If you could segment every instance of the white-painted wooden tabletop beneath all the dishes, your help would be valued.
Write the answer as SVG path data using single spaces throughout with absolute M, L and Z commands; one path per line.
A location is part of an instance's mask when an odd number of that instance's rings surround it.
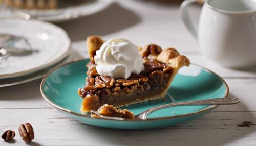
M 198 19 L 201 7 L 191 15 Z M 174 127 L 151 130 L 114 130 L 82 124 L 51 107 L 41 98 L 40 80 L 0 88 L 0 132 L 16 132 L 10 143 L 26 145 L 18 126 L 29 122 L 35 139 L 29 145 L 256 145 L 256 125 L 239 127 L 244 121 L 256 123 L 256 67 L 232 70 L 206 60 L 186 30 L 179 4 L 147 1 L 119 1 L 102 12 L 78 20 L 57 23 L 70 35 L 74 51 L 86 57 L 86 37 L 125 37 L 136 44 L 173 46 L 191 62 L 215 71 L 230 87 L 230 96 L 241 98 L 237 105 L 220 106 L 202 117 Z M 79 56 L 77 57 L 79 58 Z

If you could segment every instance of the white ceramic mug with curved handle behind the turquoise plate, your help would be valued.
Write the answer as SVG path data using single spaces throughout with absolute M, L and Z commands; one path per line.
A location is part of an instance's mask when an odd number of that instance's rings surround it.
M 187 8 L 197 0 L 185 0 L 181 14 L 188 30 L 210 60 L 227 67 L 256 64 L 256 0 L 206 0 L 198 31 Z

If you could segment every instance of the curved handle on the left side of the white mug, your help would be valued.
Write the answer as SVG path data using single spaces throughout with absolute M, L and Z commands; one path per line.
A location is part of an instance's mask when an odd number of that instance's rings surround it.
M 190 4 L 192 3 L 199 3 L 199 0 L 185 0 L 184 2 L 182 2 L 181 6 L 180 6 L 180 12 L 181 12 L 181 17 L 183 22 L 185 23 L 187 29 L 190 31 L 190 33 L 194 36 L 194 38 L 197 40 L 197 31 L 195 29 L 195 27 L 193 26 L 191 19 L 188 15 L 188 11 L 187 8 Z

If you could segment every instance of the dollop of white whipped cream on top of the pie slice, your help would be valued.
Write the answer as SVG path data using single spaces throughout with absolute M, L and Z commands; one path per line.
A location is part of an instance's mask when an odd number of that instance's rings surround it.
M 99 75 L 127 79 L 144 70 L 138 47 L 124 38 L 112 38 L 102 44 L 94 56 Z

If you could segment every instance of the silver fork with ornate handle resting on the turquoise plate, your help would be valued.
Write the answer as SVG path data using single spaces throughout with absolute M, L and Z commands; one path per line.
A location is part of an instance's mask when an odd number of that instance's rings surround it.
M 169 108 L 169 107 L 192 106 L 192 105 L 193 106 L 194 105 L 231 105 L 231 104 L 237 104 L 239 101 L 240 101 L 239 98 L 216 98 L 216 99 L 205 99 L 205 100 L 196 100 L 196 101 L 188 101 L 188 102 L 169 103 L 169 104 L 160 105 L 160 106 L 145 110 L 142 113 L 136 115 L 135 119 L 146 120 L 149 114 L 157 110 Z M 101 115 L 97 111 L 93 111 L 93 110 L 91 110 L 91 114 L 96 114 L 101 118 L 105 118 L 105 119 L 125 120 L 125 118 Z

